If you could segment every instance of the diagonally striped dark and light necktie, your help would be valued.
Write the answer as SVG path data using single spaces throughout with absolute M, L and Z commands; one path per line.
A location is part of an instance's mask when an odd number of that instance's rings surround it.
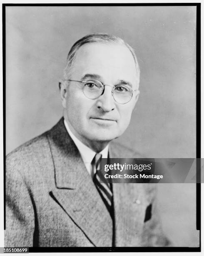
M 105 204 L 108 211 L 111 213 L 111 205 L 112 205 L 112 189 L 110 184 L 106 181 L 106 179 L 102 179 L 102 177 L 99 177 L 98 172 L 100 170 L 99 168 L 99 162 L 101 159 L 101 154 L 95 154 L 95 157 L 93 158 L 91 164 L 92 169 L 94 170 L 95 174 L 93 176 L 93 182 Z M 100 183 L 104 182 L 104 183 Z

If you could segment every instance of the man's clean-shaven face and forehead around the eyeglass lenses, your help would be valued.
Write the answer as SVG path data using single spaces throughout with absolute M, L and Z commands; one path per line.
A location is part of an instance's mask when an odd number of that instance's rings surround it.
M 128 83 L 132 90 L 138 89 L 137 73 L 129 49 L 118 44 L 90 43 L 82 46 L 76 54 L 72 67 L 72 80 L 96 79 L 102 84 L 115 86 Z M 130 122 L 136 103 L 137 92 L 126 104 L 117 103 L 112 97 L 112 87 L 105 86 L 97 99 L 89 99 L 83 93 L 83 84 L 69 82 L 62 92 L 65 120 L 71 131 L 86 145 L 91 142 L 111 141 L 119 137 Z

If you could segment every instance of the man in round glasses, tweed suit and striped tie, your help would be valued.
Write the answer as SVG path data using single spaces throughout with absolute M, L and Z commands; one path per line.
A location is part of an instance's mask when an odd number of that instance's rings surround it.
M 5 246 L 167 246 L 153 184 L 96 178 L 101 157 L 139 157 L 110 143 L 139 95 L 133 49 L 108 34 L 81 38 L 60 95 L 64 118 L 7 156 Z

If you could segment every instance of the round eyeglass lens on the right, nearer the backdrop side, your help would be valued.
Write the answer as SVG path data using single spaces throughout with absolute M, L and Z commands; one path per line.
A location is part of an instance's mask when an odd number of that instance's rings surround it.
M 119 84 L 114 88 L 113 97 L 116 102 L 125 104 L 132 99 L 132 89 Z

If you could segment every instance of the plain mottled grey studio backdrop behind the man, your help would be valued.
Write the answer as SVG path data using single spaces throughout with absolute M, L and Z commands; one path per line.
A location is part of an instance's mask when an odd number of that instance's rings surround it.
M 6 7 L 6 154 L 62 116 L 58 80 L 79 38 L 112 33 L 136 51 L 140 97 L 118 140 L 147 157 L 196 157 L 196 7 Z M 194 184 L 159 184 L 164 230 L 197 246 Z

